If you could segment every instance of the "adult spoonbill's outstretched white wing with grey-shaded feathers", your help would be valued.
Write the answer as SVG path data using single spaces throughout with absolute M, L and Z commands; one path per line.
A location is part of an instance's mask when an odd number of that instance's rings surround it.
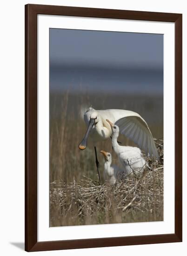
M 121 134 L 134 141 L 146 154 L 154 158 L 158 157 L 153 135 L 147 122 L 138 113 L 122 109 L 108 109 L 106 111 L 108 114 L 110 113 L 111 121 L 119 126 Z M 109 116 L 107 118 L 110 120 Z

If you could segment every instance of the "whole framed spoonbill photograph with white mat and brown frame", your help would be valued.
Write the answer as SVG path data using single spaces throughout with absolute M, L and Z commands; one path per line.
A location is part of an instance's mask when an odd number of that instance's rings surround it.
M 25 249 L 182 241 L 182 14 L 25 6 Z

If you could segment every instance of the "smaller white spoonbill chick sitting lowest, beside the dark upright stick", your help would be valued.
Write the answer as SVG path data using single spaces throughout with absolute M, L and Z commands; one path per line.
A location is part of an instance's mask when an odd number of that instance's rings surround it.
M 100 153 L 103 154 L 105 159 L 104 164 L 104 179 L 110 184 L 114 184 L 116 180 L 121 179 L 125 175 L 125 171 L 121 170 L 117 165 L 112 165 L 112 155 L 109 152 L 101 150 Z

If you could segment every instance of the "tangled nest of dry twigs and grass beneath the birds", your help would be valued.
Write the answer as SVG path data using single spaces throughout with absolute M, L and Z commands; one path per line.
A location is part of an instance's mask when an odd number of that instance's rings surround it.
M 147 158 L 143 175 L 128 175 L 114 185 L 84 177 L 50 184 L 50 226 L 163 220 L 163 141 L 160 159 Z

